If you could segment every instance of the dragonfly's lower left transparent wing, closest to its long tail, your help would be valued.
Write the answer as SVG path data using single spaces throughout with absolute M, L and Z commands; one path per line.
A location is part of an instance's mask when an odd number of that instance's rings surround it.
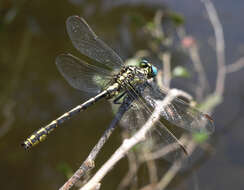
M 56 65 L 68 83 L 78 90 L 97 93 L 111 79 L 109 71 L 88 64 L 71 54 L 59 55 Z

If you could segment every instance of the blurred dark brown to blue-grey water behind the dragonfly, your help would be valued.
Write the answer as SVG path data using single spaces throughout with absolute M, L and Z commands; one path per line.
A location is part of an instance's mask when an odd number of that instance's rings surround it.
M 226 60 L 230 64 L 244 55 L 244 2 L 213 2 L 223 24 Z M 74 14 L 86 18 L 94 31 L 125 59 L 143 47 L 143 39 L 128 30 L 125 17 L 138 12 L 150 18 L 164 7 L 184 15 L 186 30 L 199 43 L 213 87 L 214 34 L 200 1 L 0 1 L 1 189 L 57 189 L 66 180 L 59 166 L 67 163 L 77 169 L 113 118 L 109 104 L 100 102 L 65 123 L 64 129 L 61 127 L 30 152 L 20 147 L 33 130 L 86 98 L 64 81 L 54 64 L 62 52 L 78 55 L 65 31 L 66 18 Z M 228 75 L 224 102 L 213 114 L 215 152 L 199 167 L 197 178 L 186 177 L 174 189 L 195 189 L 193 181 L 201 190 L 243 189 L 243 86 L 244 70 Z M 119 143 L 116 131 L 98 157 L 98 166 Z M 123 163 L 105 178 L 102 189 L 115 189 L 126 172 Z

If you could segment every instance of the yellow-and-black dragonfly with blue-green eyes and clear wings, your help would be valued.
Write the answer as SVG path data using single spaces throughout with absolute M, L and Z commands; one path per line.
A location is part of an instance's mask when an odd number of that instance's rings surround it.
M 147 60 L 141 60 L 137 64 L 125 64 L 120 56 L 93 32 L 83 18 L 68 17 L 66 29 L 82 59 L 71 54 L 61 54 L 56 58 L 57 68 L 73 88 L 92 93 L 94 96 L 30 135 L 22 143 L 25 149 L 44 141 L 61 123 L 101 99 L 110 99 L 113 103 L 119 104 L 126 95 L 133 97 L 135 101 L 128 113 L 123 116 L 122 123 L 142 125 L 146 115 L 152 113 L 155 101 L 163 99 L 167 94 L 166 90 L 155 88 L 156 85 L 150 85 L 148 82 L 157 76 L 158 70 L 155 66 Z M 179 98 L 175 98 L 166 106 L 161 116 L 173 125 L 191 132 L 211 134 L 214 131 L 210 116 Z M 137 122 L 132 123 L 132 120 Z M 160 126 L 160 134 L 168 144 L 178 142 L 177 137 L 161 121 L 158 121 L 157 125 Z

